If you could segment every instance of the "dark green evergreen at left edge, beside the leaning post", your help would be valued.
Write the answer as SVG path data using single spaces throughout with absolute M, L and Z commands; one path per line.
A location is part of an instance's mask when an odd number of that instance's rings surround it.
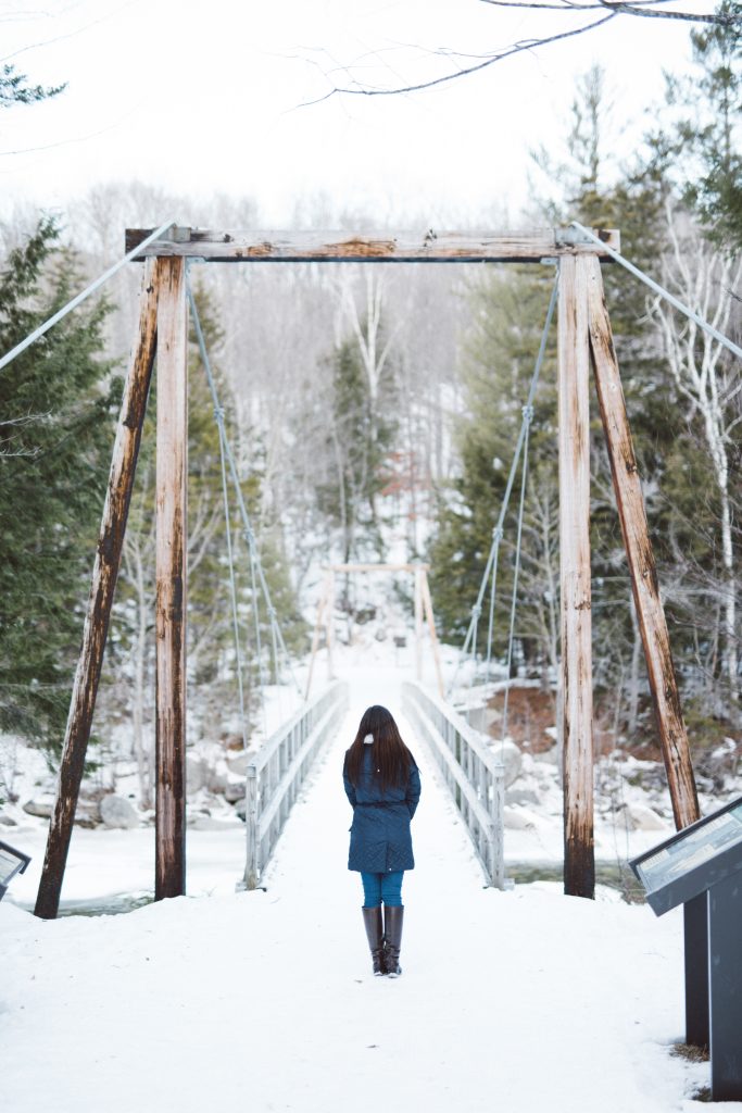
M 81 285 L 43 219 L 0 276 L 9 351 Z M 65 317 L 0 375 L 0 729 L 58 752 L 120 397 L 106 302 Z

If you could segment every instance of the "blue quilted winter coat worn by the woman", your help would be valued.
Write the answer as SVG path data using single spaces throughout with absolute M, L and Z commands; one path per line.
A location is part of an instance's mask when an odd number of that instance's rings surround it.
M 364 748 L 364 766 L 357 786 L 343 774 L 353 808 L 348 869 L 363 874 L 414 869 L 409 820 L 419 800 L 419 770 L 413 765 L 406 784 L 382 791 L 376 784 L 373 751 L 373 745 Z

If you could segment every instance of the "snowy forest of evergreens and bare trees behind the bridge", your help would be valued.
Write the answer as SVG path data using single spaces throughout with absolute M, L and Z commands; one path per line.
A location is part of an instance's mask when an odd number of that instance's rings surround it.
M 522 210 L 493 201 L 478 226 L 576 219 L 619 228 L 625 256 L 739 343 L 742 28 L 693 31 L 692 43 L 692 75 L 667 75 L 665 100 L 647 111 L 630 160 L 612 157 L 619 116 L 592 68 L 564 106 L 563 134 L 532 152 Z M 20 207 L 0 227 L 2 351 L 118 259 L 125 228 L 156 227 L 168 215 L 194 227 L 261 227 L 249 195 L 167 196 L 145 180 L 92 187 L 61 214 Z M 425 213 L 404 219 L 427 227 Z M 310 196 L 297 204 L 294 227 L 355 230 L 375 220 Z M 684 715 L 696 768 L 713 779 L 720 747 L 735 768 L 742 746 L 742 378 L 723 347 L 623 269 L 607 265 L 604 277 Z M 429 562 L 438 636 L 461 646 L 553 268 L 195 265 L 191 279 L 289 654 L 308 651 L 329 561 Z M 50 769 L 59 759 L 140 282 L 131 265 L 0 377 L 0 801 L 13 799 L 14 748 L 38 748 Z M 547 706 L 560 652 L 555 353 L 553 328 L 530 429 L 509 661 L 511 677 L 537 681 Z M 152 395 L 90 759 L 109 788 L 117 762 L 133 762 L 144 806 L 152 797 L 155 718 L 156 387 Z M 228 748 L 241 727 L 219 427 L 192 334 L 189 407 L 189 741 Z M 602 752 L 659 758 L 597 412 L 593 430 L 596 738 Z M 502 600 L 513 585 L 515 513 L 514 503 Z M 283 678 L 274 674 L 270 614 L 236 513 L 229 531 L 249 662 L 248 733 L 257 737 L 260 689 Z M 402 583 L 379 593 L 348 580 L 336 605 L 339 638 L 369 622 L 383 638 L 408 620 L 412 597 Z M 504 620 L 492 656 L 502 670 Z

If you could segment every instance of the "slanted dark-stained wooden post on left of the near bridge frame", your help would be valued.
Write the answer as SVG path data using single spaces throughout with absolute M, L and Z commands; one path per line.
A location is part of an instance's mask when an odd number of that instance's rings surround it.
M 42 919 L 52 919 L 59 910 L 59 897 L 72 835 L 75 809 L 96 708 L 111 603 L 121 559 L 121 546 L 155 361 L 158 280 L 159 268 L 156 262 L 150 259 L 147 263 L 139 296 L 139 324 L 131 349 L 123 397 L 121 398 L 108 490 L 98 535 L 98 551 L 92 569 L 90 597 L 85 618 L 82 648 L 75 673 L 62 759 L 59 767 L 57 800 L 49 824 L 47 850 L 34 908 L 34 914 Z

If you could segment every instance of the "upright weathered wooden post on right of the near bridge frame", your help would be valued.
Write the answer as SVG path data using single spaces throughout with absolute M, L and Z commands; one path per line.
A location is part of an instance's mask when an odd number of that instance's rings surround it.
M 558 441 L 564 892 L 595 894 L 590 591 L 590 341 L 585 259 L 560 262 Z

